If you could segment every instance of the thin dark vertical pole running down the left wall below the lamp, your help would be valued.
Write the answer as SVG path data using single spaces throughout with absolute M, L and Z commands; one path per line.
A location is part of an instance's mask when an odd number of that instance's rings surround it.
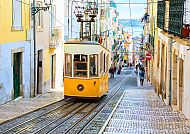
M 35 9 L 35 0 L 33 0 L 33 10 Z M 34 38 L 34 97 L 36 96 L 36 18 L 35 13 L 33 15 L 33 38 Z

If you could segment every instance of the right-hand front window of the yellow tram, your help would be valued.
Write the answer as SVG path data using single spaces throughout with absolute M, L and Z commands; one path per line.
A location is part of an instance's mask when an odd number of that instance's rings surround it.
M 90 55 L 90 76 L 91 77 L 98 77 L 98 55 Z

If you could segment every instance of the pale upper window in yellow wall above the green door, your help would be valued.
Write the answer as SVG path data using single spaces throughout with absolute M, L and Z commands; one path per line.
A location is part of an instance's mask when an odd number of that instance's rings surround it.
M 22 30 L 22 3 L 17 0 L 13 0 L 12 8 L 12 27 L 14 30 Z

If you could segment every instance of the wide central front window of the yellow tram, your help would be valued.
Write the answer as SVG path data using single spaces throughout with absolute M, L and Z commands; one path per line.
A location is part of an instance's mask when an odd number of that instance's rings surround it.
M 74 55 L 74 77 L 87 77 L 87 55 Z

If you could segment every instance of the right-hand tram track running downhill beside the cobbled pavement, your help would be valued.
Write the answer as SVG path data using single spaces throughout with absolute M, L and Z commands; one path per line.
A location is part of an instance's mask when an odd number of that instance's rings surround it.
M 39 130 L 38 132 L 35 132 L 35 134 L 40 134 L 40 133 L 79 133 L 82 130 L 84 130 L 85 126 L 88 125 L 95 117 L 97 114 L 100 113 L 102 109 L 108 104 L 108 102 L 117 94 L 118 90 L 123 87 L 123 85 L 126 82 L 123 82 L 122 86 L 119 87 L 111 97 L 102 100 L 98 104 L 91 104 L 95 106 L 89 105 L 88 107 L 85 107 L 81 111 L 78 111 L 75 115 L 73 115 L 70 119 L 61 119 L 62 121 L 59 121 L 59 123 L 56 123 L 57 126 L 51 128 L 51 126 L 46 126 Z M 115 87 L 117 86 L 114 85 Z M 80 115 L 80 116 L 79 116 Z M 83 115 L 81 117 L 81 115 Z M 87 119 L 87 120 L 86 120 Z M 86 121 L 84 121 L 86 120 Z M 81 125 L 81 122 L 85 122 L 82 124 L 82 127 L 79 127 L 79 124 Z M 76 128 L 77 131 L 76 132 Z M 72 132 L 74 130 L 74 132 Z

